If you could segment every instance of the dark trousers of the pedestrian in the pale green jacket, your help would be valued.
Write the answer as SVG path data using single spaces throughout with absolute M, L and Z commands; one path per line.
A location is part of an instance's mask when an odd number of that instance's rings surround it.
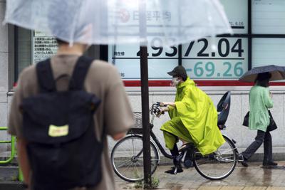
M 261 144 L 264 143 L 264 159 L 263 162 L 271 162 L 272 160 L 272 139 L 269 131 L 257 130 L 257 137 L 255 141 L 247 147 L 247 149 L 242 152 L 244 159 L 249 159 L 252 157 L 252 154 L 259 149 Z

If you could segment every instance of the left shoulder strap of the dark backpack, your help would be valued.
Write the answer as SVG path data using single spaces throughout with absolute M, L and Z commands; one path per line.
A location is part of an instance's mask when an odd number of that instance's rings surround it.
M 53 80 L 50 59 L 43 60 L 36 64 L 36 75 L 40 93 L 51 93 L 56 91 L 56 83 Z

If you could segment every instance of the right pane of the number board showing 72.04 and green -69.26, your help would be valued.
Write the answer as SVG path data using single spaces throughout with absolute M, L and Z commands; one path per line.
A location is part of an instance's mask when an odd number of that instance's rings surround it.
M 238 79 L 247 63 L 247 38 L 202 38 L 182 46 L 182 65 L 195 80 Z

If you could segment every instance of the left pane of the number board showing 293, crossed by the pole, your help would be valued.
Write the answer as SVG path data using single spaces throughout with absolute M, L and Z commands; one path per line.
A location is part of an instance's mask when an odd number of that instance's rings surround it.
M 167 72 L 178 65 L 178 48 L 160 47 L 161 39 L 152 38 L 147 47 L 150 80 L 170 80 Z M 140 80 L 140 46 L 109 46 L 109 60 L 118 68 L 123 80 Z

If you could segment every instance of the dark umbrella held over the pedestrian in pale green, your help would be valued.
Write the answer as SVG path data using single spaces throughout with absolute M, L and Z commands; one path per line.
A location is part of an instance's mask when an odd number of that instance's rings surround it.
M 239 78 L 239 81 L 254 82 L 259 73 L 266 73 L 266 72 L 271 73 L 271 78 L 269 79 L 270 81 L 285 79 L 284 67 L 277 65 L 267 65 L 267 66 L 252 68 L 252 70 L 249 70 L 247 71 L 247 73 L 244 73 L 244 75 L 242 75 L 242 77 Z

